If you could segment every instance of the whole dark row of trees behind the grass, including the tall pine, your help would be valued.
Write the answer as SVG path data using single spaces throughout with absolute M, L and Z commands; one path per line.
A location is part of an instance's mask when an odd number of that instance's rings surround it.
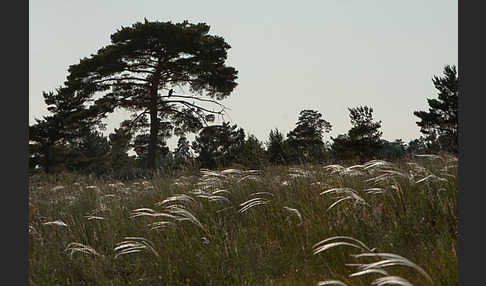
M 438 98 L 428 99 L 428 111 L 414 112 L 423 135 L 408 144 L 382 139 L 381 121 L 369 106 L 348 108 L 351 129 L 330 140 L 324 134 L 331 123 L 311 109 L 300 112 L 286 135 L 276 128 L 264 142 L 236 124 L 213 124 L 216 115 L 224 114 L 219 101 L 236 86 L 237 71 L 225 65 L 230 46 L 208 32 L 206 24 L 145 20 L 122 27 L 112 35 L 112 44 L 70 66 L 65 85 L 43 93 L 50 115 L 29 127 L 30 169 L 130 177 L 146 170 L 458 153 L 458 76 L 449 65 L 443 77 L 432 79 Z M 176 87 L 188 93 L 176 93 Z M 103 119 L 117 108 L 131 111 L 132 117 L 104 136 Z M 193 142 L 188 133 L 196 134 Z M 167 140 L 173 136 L 179 140 L 171 151 Z M 129 155 L 130 150 L 135 154 Z

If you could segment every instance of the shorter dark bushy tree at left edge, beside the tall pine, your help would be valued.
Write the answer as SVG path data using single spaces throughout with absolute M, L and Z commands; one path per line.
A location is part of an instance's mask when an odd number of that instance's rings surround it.
M 55 92 L 44 92 L 43 97 L 50 115 L 36 119 L 36 123 L 29 126 L 30 168 L 53 172 L 81 166 L 80 162 L 75 162 L 75 157 L 81 160 L 80 154 L 87 155 L 86 150 L 81 149 L 99 136 L 97 128 L 104 125 L 96 113 L 85 106 L 86 98 L 72 89 L 60 87 Z

